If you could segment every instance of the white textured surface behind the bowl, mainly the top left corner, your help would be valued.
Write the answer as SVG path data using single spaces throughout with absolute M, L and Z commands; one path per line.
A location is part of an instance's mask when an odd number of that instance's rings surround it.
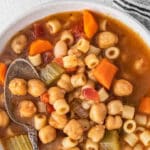
M 25 11 L 50 1 L 52 0 L 0 0 L 0 33 Z M 98 1 L 100 3 L 110 4 L 111 0 L 89 1 Z

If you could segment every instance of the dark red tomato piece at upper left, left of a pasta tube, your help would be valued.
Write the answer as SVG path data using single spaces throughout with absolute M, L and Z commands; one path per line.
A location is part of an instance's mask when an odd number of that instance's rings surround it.
M 44 29 L 40 23 L 33 24 L 34 37 L 38 38 L 44 34 Z

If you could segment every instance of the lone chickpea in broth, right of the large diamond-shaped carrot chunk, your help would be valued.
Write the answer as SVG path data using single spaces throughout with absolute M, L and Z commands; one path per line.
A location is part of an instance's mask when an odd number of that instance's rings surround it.
M 117 80 L 113 86 L 116 96 L 129 96 L 133 92 L 133 85 L 124 79 Z

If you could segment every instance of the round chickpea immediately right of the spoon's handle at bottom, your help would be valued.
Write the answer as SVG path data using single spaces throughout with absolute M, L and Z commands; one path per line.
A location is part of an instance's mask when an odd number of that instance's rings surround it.
M 47 125 L 40 129 L 39 138 L 43 144 L 50 143 L 56 139 L 56 129 Z

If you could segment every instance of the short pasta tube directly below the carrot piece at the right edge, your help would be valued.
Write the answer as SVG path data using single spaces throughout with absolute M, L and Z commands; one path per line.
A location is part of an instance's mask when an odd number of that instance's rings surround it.
M 147 116 L 146 115 L 136 114 L 134 119 L 135 119 L 137 124 L 139 124 L 141 126 L 146 126 L 146 123 L 147 123 Z

